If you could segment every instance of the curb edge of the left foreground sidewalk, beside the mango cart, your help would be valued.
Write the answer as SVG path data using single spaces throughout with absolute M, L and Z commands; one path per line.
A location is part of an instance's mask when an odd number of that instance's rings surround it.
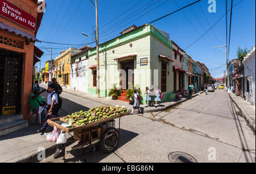
M 74 142 L 73 141 L 73 137 L 69 136 L 67 138 L 67 143 L 65 143 L 65 146 L 67 147 L 67 146 L 71 145 L 73 142 Z M 56 143 L 49 144 L 47 147 L 45 147 L 46 158 L 48 156 L 51 156 L 52 154 L 54 154 L 55 151 L 56 151 L 56 148 L 57 148 L 57 144 Z M 12 162 L 13 163 L 38 163 L 39 162 L 38 155 L 40 153 L 41 153 L 41 151 L 39 151 L 39 152 L 38 151 L 34 151 L 34 152 L 32 152 L 32 155 L 28 155 L 28 156 L 26 156 L 26 158 L 19 159 L 19 160 L 16 160 L 16 161 L 12 161 Z

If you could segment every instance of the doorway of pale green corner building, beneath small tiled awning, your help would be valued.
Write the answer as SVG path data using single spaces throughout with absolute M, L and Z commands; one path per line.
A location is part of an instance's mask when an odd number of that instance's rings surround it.
M 125 74 L 120 72 L 120 86 L 122 89 L 132 89 L 134 86 L 134 60 L 122 61 L 121 69 Z

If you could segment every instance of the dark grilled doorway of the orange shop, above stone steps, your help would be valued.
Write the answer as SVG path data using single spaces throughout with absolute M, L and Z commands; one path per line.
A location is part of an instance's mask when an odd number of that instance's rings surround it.
M 21 113 L 23 54 L 0 49 L 0 114 Z

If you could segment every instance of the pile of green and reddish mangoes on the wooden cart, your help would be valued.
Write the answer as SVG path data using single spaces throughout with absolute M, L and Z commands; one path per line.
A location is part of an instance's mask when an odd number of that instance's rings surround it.
M 128 112 L 125 106 L 99 106 L 90 108 L 88 111 L 77 111 L 71 115 L 67 115 L 64 119 L 69 121 L 69 119 L 73 118 L 73 123 L 83 126 L 86 123 L 101 121 L 102 119 L 126 114 Z

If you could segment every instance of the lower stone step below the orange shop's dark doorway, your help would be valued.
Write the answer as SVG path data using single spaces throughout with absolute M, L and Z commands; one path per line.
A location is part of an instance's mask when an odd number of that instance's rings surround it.
M 0 136 L 10 134 L 25 127 L 28 127 L 28 121 L 22 119 L 0 125 Z

